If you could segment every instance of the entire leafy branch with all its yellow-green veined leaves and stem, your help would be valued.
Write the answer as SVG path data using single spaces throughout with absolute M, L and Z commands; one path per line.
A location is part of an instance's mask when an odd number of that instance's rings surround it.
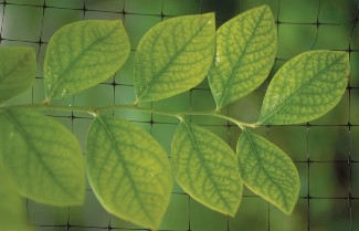
M 349 59 L 339 51 L 299 54 L 273 76 L 257 123 L 221 114 L 266 80 L 276 49 L 274 19 L 266 6 L 239 14 L 218 30 L 214 13 L 168 19 L 151 28 L 136 51 L 134 105 L 94 108 L 59 106 L 52 101 L 92 87 L 123 66 L 130 44 L 120 21 L 80 21 L 54 33 L 44 61 L 46 98 L 39 105 L 8 104 L 32 85 L 34 51 L 0 48 L 0 170 L 10 176 L 6 180 L 11 178 L 21 196 L 53 206 L 83 202 L 86 171 L 108 212 L 150 229 L 160 227 L 172 174 L 188 195 L 218 212 L 235 216 L 244 185 L 289 214 L 299 191 L 295 165 L 250 128 L 306 123 L 329 112 L 346 90 Z M 207 76 L 217 105 L 213 112 L 157 112 L 138 106 L 191 90 Z M 128 120 L 102 115 L 123 108 L 179 118 L 171 162 L 148 133 Z M 76 137 L 35 112 L 40 109 L 93 115 L 85 155 Z M 237 125 L 242 134 L 235 153 L 217 135 L 189 123 L 187 115 L 217 116 Z M 0 193 L 8 193 L 2 186 Z

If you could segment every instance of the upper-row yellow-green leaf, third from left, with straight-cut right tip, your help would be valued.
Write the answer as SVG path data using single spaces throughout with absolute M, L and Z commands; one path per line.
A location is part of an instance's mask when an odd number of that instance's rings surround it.
M 151 28 L 135 55 L 138 102 L 186 92 L 205 77 L 215 50 L 214 13 L 177 17 Z

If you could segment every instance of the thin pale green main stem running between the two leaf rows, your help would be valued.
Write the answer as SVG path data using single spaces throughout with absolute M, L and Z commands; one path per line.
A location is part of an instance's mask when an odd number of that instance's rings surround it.
M 240 122 L 235 118 L 222 115 L 217 111 L 209 111 L 209 112 L 168 112 L 168 111 L 159 111 L 154 108 L 140 107 L 133 104 L 120 104 L 120 105 L 112 105 L 112 106 L 102 106 L 102 107 L 89 107 L 89 106 L 72 106 L 72 105 L 54 105 L 54 104 L 27 104 L 27 105 L 15 105 L 15 106 L 2 106 L 0 109 L 39 109 L 39 111 L 70 111 L 70 112 L 80 112 L 86 113 L 94 117 L 103 111 L 113 111 L 113 109 L 134 109 L 141 113 L 151 113 L 157 115 L 170 116 L 176 117 L 178 119 L 182 119 L 186 115 L 191 116 L 212 116 L 222 118 L 233 124 L 237 125 L 241 129 L 245 127 L 257 127 L 256 124 L 247 124 L 244 122 Z

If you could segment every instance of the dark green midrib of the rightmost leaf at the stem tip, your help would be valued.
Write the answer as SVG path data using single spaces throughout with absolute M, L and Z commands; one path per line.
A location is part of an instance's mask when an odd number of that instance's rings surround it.
M 309 78 L 308 81 L 306 81 L 300 87 L 298 87 L 295 92 L 293 92 L 292 95 L 289 95 L 287 98 L 285 98 L 285 101 L 283 101 L 281 104 L 278 104 L 277 107 L 273 108 L 272 112 L 267 113 L 267 115 L 264 116 L 264 118 L 261 118 L 258 124 L 263 124 L 265 123 L 265 120 L 271 117 L 273 114 L 277 113 L 278 111 L 281 111 L 284 106 L 286 106 L 288 104 L 288 102 L 292 101 L 292 98 L 294 96 L 296 96 L 304 87 L 306 87 L 308 84 L 310 84 L 312 82 L 317 80 L 317 76 L 330 71 L 329 69 L 331 69 L 331 66 L 334 66 L 336 64 L 336 62 L 338 60 L 342 59 L 342 56 L 336 59 L 335 61 L 332 61 L 332 63 L 330 63 L 330 65 L 328 65 L 325 69 L 319 70 L 312 78 Z M 323 73 L 321 73 L 323 72 Z M 261 117 L 261 116 L 260 116 Z

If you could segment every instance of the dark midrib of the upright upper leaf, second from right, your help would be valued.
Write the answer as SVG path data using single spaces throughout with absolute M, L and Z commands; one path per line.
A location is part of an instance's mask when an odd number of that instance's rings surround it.
M 265 14 L 265 8 L 264 8 L 264 10 L 262 11 L 261 17 L 257 19 L 257 21 L 256 21 L 256 23 L 255 23 L 255 27 L 254 27 L 254 29 L 253 29 L 253 33 L 251 34 L 251 38 L 249 39 L 249 41 L 245 43 L 245 46 L 244 46 L 244 49 L 243 49 L 243 52 L 242 52 L 242 54 L 239 56 L 235 66 L 231 70 L 231 75 L 230 75 L 230 77 L 228 78 L 226 85 L 225 85 L 225 87 L 224 87 L 223 94 L 222 94 L 221 99 L 220 99 L 220 103 L 219 103 L 219 105 L 218 105 L 219 108 L 222 108 L 222 106 L 223 106 L 223 102 L 224 102 L 224 99 L 226 98 L 226 92 L 229 91 L 230 83 L 231 83 L 232 80 L 233 80 L 234 73 L 235 73 L 235 71 L 236 71 L 236 70 L 242 65 L 243 56 L 246 54 L 246 50 L 247 50 L 250 43 L 252 43 L 252 40 L 253 40 L 253 38 L 254 38 L 254 34 L 255 34 L 255 32 L 257 31 L 258 25 L 260 25 L 262 19 L 264 18 L 264 14 Z M 228 30 L 228 33 L 229 33 L 229 31 L 230 31 L 230 30 Z M 226 33 L 226 34 L 228 34 L 228 33 Z M 228 48 L 228 46 L 226 46 L 226 48 Z

